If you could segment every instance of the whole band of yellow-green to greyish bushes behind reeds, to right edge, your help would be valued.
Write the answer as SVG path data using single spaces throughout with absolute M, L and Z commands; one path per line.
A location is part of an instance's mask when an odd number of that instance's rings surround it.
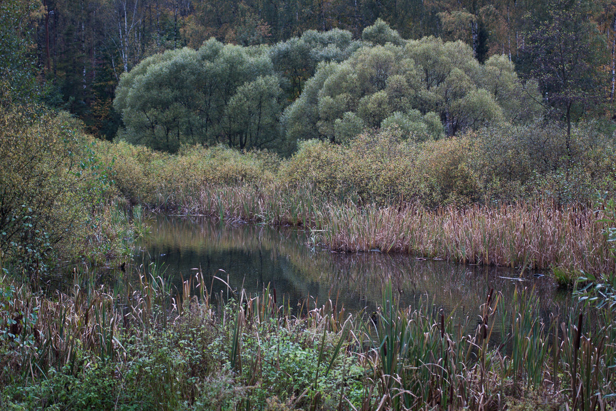
M 614 137 L 595 130 L 574 128 L 568 157 L 565 131 L 546 124 L 491 127 L 423 142 L 407 140 L 408 130 L 394 126 L 342 145 L 302 142 L 282 162 L 277 181 L 379 203 L 591 201 L 596 189 L 616 189 Z

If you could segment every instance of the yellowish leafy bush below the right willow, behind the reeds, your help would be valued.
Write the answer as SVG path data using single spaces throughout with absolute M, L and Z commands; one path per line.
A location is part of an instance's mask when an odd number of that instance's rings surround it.
M 326 195 L 361 201 L 468 202 L 475 187 L 464 166 L 464 145 L 468 139 L 417 145 L 403 141 L 397 129 L 362 134 L 342 146 L 306 142 L 283 163 L 279 177 L 283 184 L 314 185 Z

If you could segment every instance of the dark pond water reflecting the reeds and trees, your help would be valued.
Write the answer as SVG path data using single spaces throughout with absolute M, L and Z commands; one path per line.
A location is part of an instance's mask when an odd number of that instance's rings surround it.
M 384 285 L 391 280 L 395 295 L 414 307 L 433 304 L 434 309 L 456 315 L 478 315 L 479 306 L 493 288 L 507 304 L 516 287 L 535 288 L 542 311 L 559 311 L 571 301 L 570 293 L 557 288 L 549 275 L 520 276 L 513 269 L 424 261 L 402 254 L 332 253 L 307 245 L 308 236 L 290 227 L 233 226 L 208 219 L 180 218 L 155 214 L 152 234 L 140 250 L 157 264 L 163 264 L 164 277 L 178 290 L 182 279 L 197 272 L 205 277 L 215 293 L 227 286 L 262 293 L 275 288 L 278 301 L 285 298 L 292 307 L 309 299 L 310 306 L 326 299 L 338 307 L 371 312 L 382 298 Z M 222 270 L 222 271 L 221 271 Z M 503 278 L 505 277 L 505 278 Z

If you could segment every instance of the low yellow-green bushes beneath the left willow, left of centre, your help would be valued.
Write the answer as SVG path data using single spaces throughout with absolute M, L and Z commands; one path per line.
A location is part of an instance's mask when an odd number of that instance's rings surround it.
M 183 147 L 168 155 L 126 142 L 97 142 L 95 152 L 110 165 L 113 187 L 132 203 L 168 208 L 203 185 L 267 184 L 280 158 L 239 152 L 224 145 Z

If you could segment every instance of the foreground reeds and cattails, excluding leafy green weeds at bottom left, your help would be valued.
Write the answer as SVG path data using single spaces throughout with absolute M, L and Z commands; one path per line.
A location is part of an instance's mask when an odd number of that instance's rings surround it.
M 6 284 L 7 279 L 2 282 Z M 192 294 L 193 282 L 198 295 Z M 544 323 L 540 306 L 528 290 L 516 293 L 511 311 L 501 303 L 502 296 L 491 290 L 478 320 L 467 317 L 458 322 L 452 313 L 435 312 L 432 304 L 419 310 L 400 306 L 389 283 L 378 311 L 370 316 L 349 315 L 328 299 L 300 309 L 298 317 L 291 314 L 288 303 L 277 301 L 275 290 L 267 288 L 259 296 L 240 291 L 234 301 L 221 304 L 219 300 L 216 306 L 216 296 L 206 286 L 203 275 L 197 273 L 184 281 L 177 294 L 172 293 L 154 272 L 121 292 L 78 277 L 71 296 L 49 299 L 33 295 L 26 287 L 17 288 L 9 304 L 10 317 L 17 319 L 15 336 L 8 341 L 11 349 L 9 356 L 0 359 L 0 369 L 36 381 L 51 367 L 72 367 L 76 351 L 94 354 L 87 356 L 92 364 L 78 367 L 121 364 L 131 355 L 123 346 L 131 335 L 164 332 L 192 319 L 229 330 L 227 360 L 237 376 L 235 383 L 245 391 L 258 388 L 256 381 L 265 370 L 277 367 L 279 359 L 271 350 L 275 353 L 279 348 L 267 340 L 285 329 L 310 330 L 310 346 L 318 351 L 317 367 L 312 380 L 301 388 L 304 391 L 293 397 L 293 408 L 316 407 L 320 381 L 334 364 L 345 367 L 339 356 L 352 359 L 356 370 L 346 377 L 343 372 L 343 380 L 349 380 L 337 383 L 338 409 L 503 409 L 509 397 L 519 396 L 515 393 L 524 389 L 544 391 L 551 404 L 567 402 L 571 409 L 614 406 L 610 393 L 614 391 L 616 323 L 610 310 L 595 312 L 591 320 L 588 314 L 580 314 L 584 311 L 578 306 Z M 31 320 L 19 317 L 22 314 Z M 12 344 L 19 335 L 22 344 Z M 330 341 L 328 350 L 323 349 L 325 340 Z M 254 356 L 245 352 L 248 341 L 258 345 Z M 363 372 L 357 374 L 358 368 Z M 359 402 L 352 404 L 346 387 L 354 379 L 362 381 L 365 389 Z M 182 381 L 177 385 L 182 385 L 184 399 L 192 401 L 195 390 Z M 248 404 L 238 409 L 243 407 Z

